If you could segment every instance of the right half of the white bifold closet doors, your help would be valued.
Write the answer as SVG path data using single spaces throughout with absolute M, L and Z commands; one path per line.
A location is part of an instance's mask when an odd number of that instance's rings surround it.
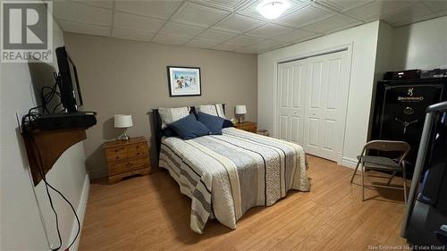
M 305 150 L 333 161 L 342 151 L 340 141 L 344 136 L 342 114 L 346 113 L 346 108 L 342 100 L 347 99 L 344 93 L 348 91 L 343 83 L 348 75 L 345 55 L 346 52 L 339 52 L 308 58 L 307 88 L 310 100 L 306 103 L 305 119 L 312 129 L 307 130 Z M 317 140 L 313 138 L 314 135 L 317 135 Z

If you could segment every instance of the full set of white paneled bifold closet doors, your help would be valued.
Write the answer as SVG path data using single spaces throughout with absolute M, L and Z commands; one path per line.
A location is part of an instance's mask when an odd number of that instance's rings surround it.
M 278 65 L 278 138 L 303 146 L 310 155 L 340 160 L 347 61 L 347 51 L 342 51 Z

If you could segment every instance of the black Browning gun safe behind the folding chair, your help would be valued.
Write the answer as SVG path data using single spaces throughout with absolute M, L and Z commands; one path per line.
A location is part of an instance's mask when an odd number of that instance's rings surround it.
M 408 177 L 412 177 L 416 163 L 426 107 L 446 100 L 446 88 L 447 78 L 383 80 L 377 83 L 370 139 L 408 142 L 411 146 L 407 157 Z

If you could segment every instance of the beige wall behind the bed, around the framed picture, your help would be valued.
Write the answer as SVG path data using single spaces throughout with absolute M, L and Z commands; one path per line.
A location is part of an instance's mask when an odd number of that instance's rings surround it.
M 84 143 L 92 178 L 106 174 L 101 144 L 121 132 L 114 129 L 116 113 L 132 114 L 134 126 L 129 134 L 146 138 L 152 134 L 148 112 L 158 106 L 225 103 L 232 117 L 234 105 L 243 104 L 247 105 L 247 120 L 257 120 L 256 55 L 73 33 L 65 33 L 64 38 L 78 67 L 83 110 L 97 112 L 97 126 L 88 130 Z M 169 97 L 167 65 L 200 67 L 202 96 Z M 150 151 L 155 161 L 155 147 Z

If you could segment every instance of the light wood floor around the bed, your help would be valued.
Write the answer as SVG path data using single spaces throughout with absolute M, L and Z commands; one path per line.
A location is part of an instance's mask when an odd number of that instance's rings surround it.
M 190 199 L 168 172 L 93 183 L 79 250 L 368 250 L 405 245 L 401 191 L 350 184 L 349 168 L 308 156 L 311 191 L 290 191 L 269 207 L 252 208 L 230 230 L 208 222 L 190 230 Z M 393 183 L 401 184 L 401 179 Z M 392 200 L 390 202 L 390 200 Z

